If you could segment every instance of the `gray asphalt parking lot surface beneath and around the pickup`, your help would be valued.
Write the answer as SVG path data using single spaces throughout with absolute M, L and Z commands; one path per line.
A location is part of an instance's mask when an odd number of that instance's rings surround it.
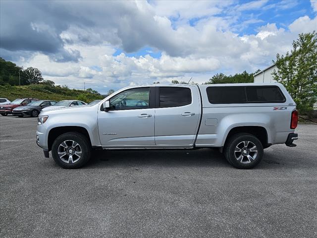
M 100 151 L 65 170 L 0 117 L 0 237 L 316 237 L 317 125 L 252 170 L 217 150 Z

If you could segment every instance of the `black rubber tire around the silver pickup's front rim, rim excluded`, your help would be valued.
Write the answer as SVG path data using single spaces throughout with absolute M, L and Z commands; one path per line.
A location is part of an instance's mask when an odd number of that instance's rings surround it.
M 58 155 L 58 147 L 62 142 L 67 140 L 73 140 L 79 144 L 82 154 L 78 161 L 74 163 L 66 163 L 64 162 Z M 64 160 L 67 160 L 67 156 Z M 84 166 L 91 157 L 91 146 L 86 136 L 77 133 L 77 132 L 68 132 L 58 136 L 52 145 L 52 157 L 57 165 L 64 169 L 77 169 Z

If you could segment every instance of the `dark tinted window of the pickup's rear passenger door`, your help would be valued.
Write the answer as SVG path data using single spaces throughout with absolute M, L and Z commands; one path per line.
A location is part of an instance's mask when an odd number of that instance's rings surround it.
M 190 88 L 159 87 L 159 107 L 180 107 L 192 103 Z

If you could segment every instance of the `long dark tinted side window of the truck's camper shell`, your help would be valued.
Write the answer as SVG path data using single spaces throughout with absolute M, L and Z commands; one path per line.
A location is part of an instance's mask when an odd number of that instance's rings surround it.
M 211 86 L 206 90 L 211 104 L 284 103 L 286 101 L 277 86 Z

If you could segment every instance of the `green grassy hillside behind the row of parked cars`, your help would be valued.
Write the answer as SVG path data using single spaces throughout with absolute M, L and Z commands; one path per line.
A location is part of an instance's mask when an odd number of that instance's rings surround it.
M 101 94 L 93 90 L 84 91 L 45 84 L 23 86 L 0 85 L 0 97 L 7 98 L 10 101 L 16 98 L 38 98 L 54 101 L 77 99 L 85 101 L 86 103 L 104 98 Z

